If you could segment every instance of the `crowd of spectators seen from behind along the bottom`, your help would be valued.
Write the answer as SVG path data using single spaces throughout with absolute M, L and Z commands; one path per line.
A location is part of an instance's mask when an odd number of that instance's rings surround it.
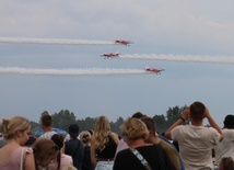
M 225 115 L 221 128 L 199 101 L 161 134 L 141 112 L 120 125 L 121 135 L 103 115 L 93 129 L 70 124 L 67 136 L 52 131 L 49 114 L 40 123 L 44 134 L 35 137 L 27 118 L 2 120 L 0 170 L 234 170 L 234 115 Z

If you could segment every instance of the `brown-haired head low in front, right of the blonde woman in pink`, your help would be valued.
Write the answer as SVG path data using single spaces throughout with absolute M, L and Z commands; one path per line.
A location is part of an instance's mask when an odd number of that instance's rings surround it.
M 59 147 L 51 139 L 42 138 L 34 144 L 33 152 L 36 166 L 47 167 L 57 158 Z

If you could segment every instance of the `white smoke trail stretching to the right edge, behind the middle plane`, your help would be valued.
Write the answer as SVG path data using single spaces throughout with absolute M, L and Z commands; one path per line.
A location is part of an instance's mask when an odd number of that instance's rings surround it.
M 186 61 L 186 63 L 210 63 L 210 64 L 226 64 L 234 65 L 234 57 L 225 56 L 183 56 L 183 55 L 119 55 L 121 59 L 152 59 L 164 61 Z

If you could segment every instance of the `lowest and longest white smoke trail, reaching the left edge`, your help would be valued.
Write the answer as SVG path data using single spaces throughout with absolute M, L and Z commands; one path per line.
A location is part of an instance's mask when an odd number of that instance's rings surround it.
M 114 69 L 114 68 L 91 68 L 91 69 L 37 69 L 19 67 L 0 67 L 0 75 L 34 75 L 34 76 L 102 76 L 102 75 L 142 75 L 149 73 L 144 69 Z

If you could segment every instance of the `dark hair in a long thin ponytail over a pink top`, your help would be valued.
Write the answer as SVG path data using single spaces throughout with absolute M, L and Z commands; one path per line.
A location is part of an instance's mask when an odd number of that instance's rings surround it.
M 63 147 L 65 137 L 61 134 L 54 134 L 51 136 L 51 140 L 59 147 L 59 150 L 61 150 L 61 148 Z M 61 152 L 60 151 L 57 155 L 57 162 L 58 162 L 57 169 L 59 170 L 60 166 L 61 166 Z

